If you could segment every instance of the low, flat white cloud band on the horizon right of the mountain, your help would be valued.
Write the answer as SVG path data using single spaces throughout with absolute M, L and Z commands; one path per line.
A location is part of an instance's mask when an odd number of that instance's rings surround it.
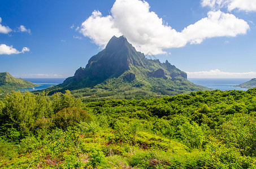
M 255 78 L 256 72 L 222 72 L 219 69 L 201 72 L 186 72 L 188 78 Z

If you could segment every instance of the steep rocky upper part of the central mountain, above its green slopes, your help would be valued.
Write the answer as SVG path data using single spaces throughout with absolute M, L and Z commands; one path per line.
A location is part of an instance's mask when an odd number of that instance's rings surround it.
M 134 70 L 134 67 L 138 69 Z M 135 72 L 144 75 L 149 72 L 151 77 L 156 78 L 186 79 L 186 73 L 168 61 L 160 63 L 159 60 L 146 59 L 144 54 L 137 52 L 124 36 L 119 38 L 114 36 L 105 50 L 90 58 L 85 68 L 79 68 L 76 71 L 72 80 L 83 81 L 84 87 L 92 87 L 106 79 L 117 78 L 126 71 L 133 72 L 125 75 L 128 81 L 136 79 Z

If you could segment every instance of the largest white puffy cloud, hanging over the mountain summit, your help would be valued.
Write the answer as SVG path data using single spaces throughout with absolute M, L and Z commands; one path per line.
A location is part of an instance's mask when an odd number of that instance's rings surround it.
M 154 55 L 166 54 L 168 48 L 202 43 L 206 38 L 235 37 L 249 30 L 246 21 L 222 11 L 210 11 L 207 17 L 177 32 L 150 11 L 149 3 L 140 0 L 116 0 L 111 14 L 93 11 L 80 28 L 80 33 L 105 47 L 109 39 L 125 35 L 138 51 Z

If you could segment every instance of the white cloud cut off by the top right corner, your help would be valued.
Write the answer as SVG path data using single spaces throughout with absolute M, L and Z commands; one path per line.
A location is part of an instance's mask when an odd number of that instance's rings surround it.
M 246 12 L 256 11 L 255 0 L 202 0 L 203 7 L 209 6 L 212 9 L 227 8 L 228 11 L 238 10 Z

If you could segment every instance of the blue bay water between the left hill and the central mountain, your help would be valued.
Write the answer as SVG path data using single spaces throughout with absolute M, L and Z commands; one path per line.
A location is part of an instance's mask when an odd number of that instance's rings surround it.
M 64 78 L 24 78 L 24 80 L 38 84 L 40 86 L 31 88 L 18 88 L 15 91 L 36 91 L 43 90 L 47 87 L 55 86 L 57 84 L 63 83 Z

